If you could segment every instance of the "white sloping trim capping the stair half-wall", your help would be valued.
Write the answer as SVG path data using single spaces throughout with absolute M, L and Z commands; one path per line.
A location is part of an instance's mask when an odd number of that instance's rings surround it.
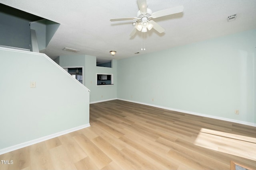
M 44 53 L 36 53 L 36 52 L 32 52 L 32 51 L 22 51 L 19 49 L 9 49 L 9 48 L 4 48 L 4 47 L 0 47 L 0 49 L 2 50 L 6 50 L 6 51 L 19 51 L 21 53 L 27 53 L 27 54 L 37 54 L 37 55 L 41 55 L 43 57 L 45 57 L 46 59 L 48 59 L 52 64 L 54 64 L 55 66 L 57 66 L 58 68 L 60 68 L 60 70 L 62 70 L 62 72 L 64 72 L 65 74 L 67 74 L 68 76 L 72 77 L 68 72 L 66 72 L 59 64 L 55 63 L 55 61 L 53 61 L 50 57 L 48 57 L 46 54 Z M 90 90 L 84 86 L 82 83 L 80 83 L 78 80 L 76 80 L 74 77 L 72 77 L 73 80 L 75 80 L 80 86 L 82 86 L 83 88 L 85 88 L 86 90 L 88 90 L 88 92 L 90 92 Z

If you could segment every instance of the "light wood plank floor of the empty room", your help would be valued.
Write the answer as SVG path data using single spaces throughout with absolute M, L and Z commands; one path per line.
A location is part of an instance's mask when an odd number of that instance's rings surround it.
M 91 127 L 0 155 L 0 170 L 256 169 L 256 127 L 112 100 Z

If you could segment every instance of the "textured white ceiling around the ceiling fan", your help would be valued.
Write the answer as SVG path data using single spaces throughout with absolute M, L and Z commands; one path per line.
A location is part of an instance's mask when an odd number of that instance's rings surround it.
M 44 53 L 52 59 L 63 54 L 64 47 L 106 59 L 160 51 L 231 33 L 256 29 L 256 0 L 147 0 L 153 12 L 184 6 L 184 12 L 156 18 L 165 32 L 154 29 L 145 35 L 130 37 L 132 21 L 111 22 L 111 18 L 136 17 L 136 0 L 0 0 L 13 8 L 60 23 Z M 237 14 L 235 21 L 227 17 Z M 145 42 L 146 50 L 141 51 Z M 143 45 L 144 46 L 144 45 Z M 140 52 L 139 54 L 134 54 Z

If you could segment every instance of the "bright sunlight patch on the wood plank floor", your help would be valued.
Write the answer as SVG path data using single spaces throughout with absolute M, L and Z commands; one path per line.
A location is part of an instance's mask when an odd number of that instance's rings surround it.
M 202 128 L 194 145 L 256 160 L 256 138 Z

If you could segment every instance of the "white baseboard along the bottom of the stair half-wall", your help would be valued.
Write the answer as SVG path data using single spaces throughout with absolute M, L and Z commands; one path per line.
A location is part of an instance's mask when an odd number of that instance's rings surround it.
M 84 129 L 86 127 L 90 127 L 90 123 L 85 124 L 85 125 L 81 125 L 81 126 L 78 126 L 78 127 L 74 127 L 74 128 L 71 128 L 71 129 L 68 129 L 68 130 L 65 130 L 65 131 L 61 131 L 61 132 L 58 132 L 58 133 L 54 133 L 52 135 L 48 135 L 48 136 L 45 136 L 45 137 L 40 137 L 40 138 L 34 139 L 32 141 L 20 143 L 18 145 L 14 145 L 14 146 L 11 146 L 11 147 L 8 147 L 8 148 L 1 149 L 0 150 L 0 155 L 5 154 L 7 152 L 11 152 L 13 150 L 21 149 L 21 148 L 24 148 L 24 147 L 27 147 L 27 146 L 30 146 L 30 145 L 34 145 L 36 143 L 40 143 L 40 142 L 52 139 L 54 137 L 58 137 L 58 136 L 61 136 L 61 135 L 65 135 L 67 133 L 71 133 L 71 132 L 74 132 L 74 131 L 77 131 L 77 130 L 80 130 L 80 129 Z

